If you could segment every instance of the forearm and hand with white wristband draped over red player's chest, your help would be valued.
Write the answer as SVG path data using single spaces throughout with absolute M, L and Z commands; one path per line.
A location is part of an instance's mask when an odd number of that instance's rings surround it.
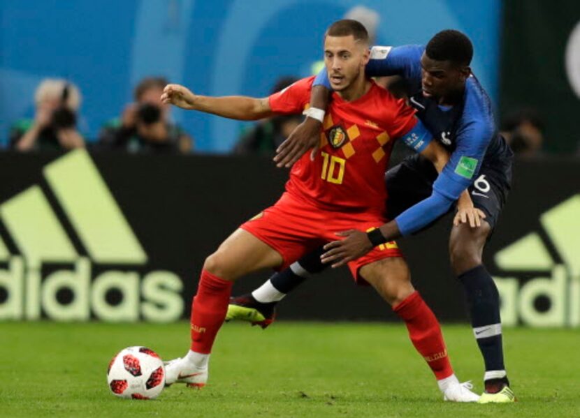
M 276 149 L 274 161 L 277 167 L 291 167 L 308 150 L 314 159 L 318 150 L 319 133 L 324 113 L 330 101 L 331 91 L 324 85 L 314 85 L 310 94 L 310 108 L 305 111 L 306 119 L 296 126 L 289 137 Z

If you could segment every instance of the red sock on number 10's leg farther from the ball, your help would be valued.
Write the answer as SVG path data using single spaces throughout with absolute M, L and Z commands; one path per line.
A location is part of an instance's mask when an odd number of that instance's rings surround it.
M 405 321 L 413 345 L 427 361 L 435 373 L 435 378 L 437 380 L 449 378 L 453 374 L 453 368 L 439 322 L 419 292 L 413 292 L 394 307 L 393 311 Z

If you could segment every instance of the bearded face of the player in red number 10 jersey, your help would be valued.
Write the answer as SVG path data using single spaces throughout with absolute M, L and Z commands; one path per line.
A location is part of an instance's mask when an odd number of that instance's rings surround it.
M 368 47 L 354 36 L 326 36 L 324 65 L 334 91 L 344 91 L 361 77 L 368 62 Z

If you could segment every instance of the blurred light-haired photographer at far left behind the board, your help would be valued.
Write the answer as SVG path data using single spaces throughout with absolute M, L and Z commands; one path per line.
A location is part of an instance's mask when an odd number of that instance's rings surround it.
M 47 78 L 34 93 L 34 119 L 20 119 L 10 128 L 10 147 L 19 151 L 84 147 L 76 128 L 80 91 L 66 80 Z

